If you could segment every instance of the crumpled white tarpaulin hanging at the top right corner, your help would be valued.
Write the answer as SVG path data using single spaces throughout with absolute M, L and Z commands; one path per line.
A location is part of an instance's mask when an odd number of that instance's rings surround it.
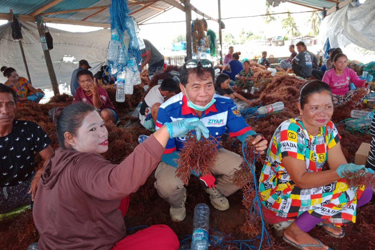
M 320 24 L 319 37 L 324 44 L 327 37 L 331 48 L 355 45 L 375 51 L 375 0 L 367 0 L 356 7 L 348 4 L 326 16 Z

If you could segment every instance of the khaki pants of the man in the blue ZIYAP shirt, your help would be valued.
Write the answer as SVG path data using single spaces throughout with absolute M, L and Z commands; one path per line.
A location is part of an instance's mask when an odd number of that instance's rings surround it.
M 232 183 L 231 179 L 234 172 L 240 168 L 242 160 L 242 157 L 238 154 L 219 148 L 213 174 L 217 179 L 215 187 L 223 195 L 229 196 L 240 189 L 240 187 Z M 160 162 L 155 171 L 156 181 L 154 183 L 160 197 L 173 207 L 180 206 L 184 196 L 184 183 L 180 178 L 175 177 L 176 169 L 165 162 Z

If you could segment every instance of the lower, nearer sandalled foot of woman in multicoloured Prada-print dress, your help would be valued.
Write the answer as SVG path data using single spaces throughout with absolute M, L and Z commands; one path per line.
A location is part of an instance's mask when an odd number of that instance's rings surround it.
M 284 237 L 287 238 L 287 240 L 293 241 L 296 245 L 319 244 L 319 242 L 315 240 L 314 238 L 312 238 L 307 232 L 299 229 L 299 227 L 296 225 L 295 222 L 293 222 L 290 226 L 288 226 L 287 229 L 285 229 Z M 303 247 L 303 249 L 304 250 L 327 250 L 329 249 L 329 247 L 323 244 L 323 247 Z

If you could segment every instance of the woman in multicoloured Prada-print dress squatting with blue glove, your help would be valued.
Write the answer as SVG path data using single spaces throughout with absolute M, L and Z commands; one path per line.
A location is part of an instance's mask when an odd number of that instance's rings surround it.
M 300 117 L 284 121 L 275 131 L 260 177 L 267 213 L 296 219 L 284 231 L 284 241 L 303 250 L 329 249 L 308 232 L 320 224 L 327 234 L 344 237 L 340 227 L 356 221 L 356 208 L 371 200 L 371 188 L 349 189 L 345 171 L 365 170 L 347 163 L 340 135 L 330 121 L 332 91 L 324 82 L 302 87 Z M 324 163 L 329 169 L 323 170 Z M 321 224 L 322 223 L 322 224 Z

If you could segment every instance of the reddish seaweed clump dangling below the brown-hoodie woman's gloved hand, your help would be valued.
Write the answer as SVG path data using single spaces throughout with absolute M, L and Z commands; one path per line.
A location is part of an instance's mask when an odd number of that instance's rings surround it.
M 197 141 L 195 135 L 189 132 L 184 147 L 178 153 L 180 158 L 176 160 L 179 165 L 176 177 L 187 185 L 192 171 L 202 176 L 210 174 L 214 170 L 219 144 L 220 142 L 213 136 L 208 139 L 201 136 L 201 139 Z

